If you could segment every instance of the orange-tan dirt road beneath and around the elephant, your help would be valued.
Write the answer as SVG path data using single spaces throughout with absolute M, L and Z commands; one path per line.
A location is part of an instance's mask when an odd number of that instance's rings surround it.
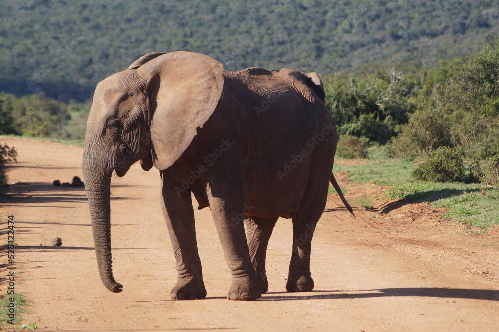
M 17 292 L 31 301 L 23 324 L 40 331 L 498 331 L 499 231 L 476 235 L 425 204 L 379 201 L 377 211 L 355 207 L 357 219 L 330 195 L 312 252 L 315 289 L 287 293 L 290 220 L 281 219 L 267 253 L 269 292 L 261 299 L 226 299 L 230 274 L 209 209 L 196 227 L 207 299 L 173 301 L 174 257 L 159 207 L 159 175 L 134 165 L 113 179 L 113 294 L 97 272 L 85 192 L 54 187 L 82 177 L 83 149 L 0 137 L 15 146 L 9 199 L 15 215 Z M 339 182 L 346 198 L 374 194 L 374 185 Z M 20 183 L 19 183 L 20 182 Z M 2 234 L 1 243 L 6 243 Z M 53 237 L 61 247 L 51 246 Z M 6 262 L 2 252 L 0 263 Z M 6 294 L 5 266 L 0 294 Z M 10 328 L 4 326 L 3 328 Z

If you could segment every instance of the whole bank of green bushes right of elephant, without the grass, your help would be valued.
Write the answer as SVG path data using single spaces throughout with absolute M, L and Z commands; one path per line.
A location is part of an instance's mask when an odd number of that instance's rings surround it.
M 340 156 L 363 157 L 359 142 L 368 139 L 388 143 L 391 156 L 431 157 L 416 169 L 416 179 L 499 185 L 498 39 L 435 69 L 379 69 L 326 82 L 339 133 L 359 140 L 349 139 L 348 149 L 340 139 Z

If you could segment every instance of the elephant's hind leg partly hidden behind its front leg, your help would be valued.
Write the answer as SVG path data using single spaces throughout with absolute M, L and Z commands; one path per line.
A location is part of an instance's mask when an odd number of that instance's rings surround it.
M 245 220 L 248 230 L 248 248 L 250 249 L 251 262 L 253 263 L 256 275 L 260 277 L 261 291 L 268 291 L 268 280 L 265 271 L 265 258 L 267 245 L 272 230 L 278 218 L 260 219 L 248 218 Z

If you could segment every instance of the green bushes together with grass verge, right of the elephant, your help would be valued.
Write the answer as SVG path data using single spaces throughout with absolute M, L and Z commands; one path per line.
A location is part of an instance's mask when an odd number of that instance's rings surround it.
M 499 40 L 434 69 L 385 72 L 330 80 L 328 106 L 347 138 L 339 156 L 369 152 L 366 164 L 335 171 L 389 186 L 392 199 L 447 207 L 447 217 L 472 226 L 499 224 Z M 366 140 L 374 147 L 360 144 Z M 372 208 L 369 197 L 357 203 Z

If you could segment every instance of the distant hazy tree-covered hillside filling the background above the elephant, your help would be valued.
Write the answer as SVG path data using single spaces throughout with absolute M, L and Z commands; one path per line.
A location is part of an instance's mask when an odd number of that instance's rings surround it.
M 499 0 L 2 0 L 0 91 L 85 101 L 151 51 L 250 66 L 355 71 L 434 66 L 499 33 Z

